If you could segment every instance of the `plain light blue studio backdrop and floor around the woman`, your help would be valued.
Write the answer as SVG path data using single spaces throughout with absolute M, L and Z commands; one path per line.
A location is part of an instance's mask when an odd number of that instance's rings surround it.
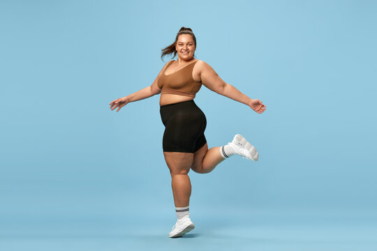
M 376 1 L 0 1 L 1 250 L 376 250 Z M 257 114 L 205 86 L 209 147 L 175 207 L 151 85 L 182 26 Z M 165 57 L 165 62 L 169 58 Z

